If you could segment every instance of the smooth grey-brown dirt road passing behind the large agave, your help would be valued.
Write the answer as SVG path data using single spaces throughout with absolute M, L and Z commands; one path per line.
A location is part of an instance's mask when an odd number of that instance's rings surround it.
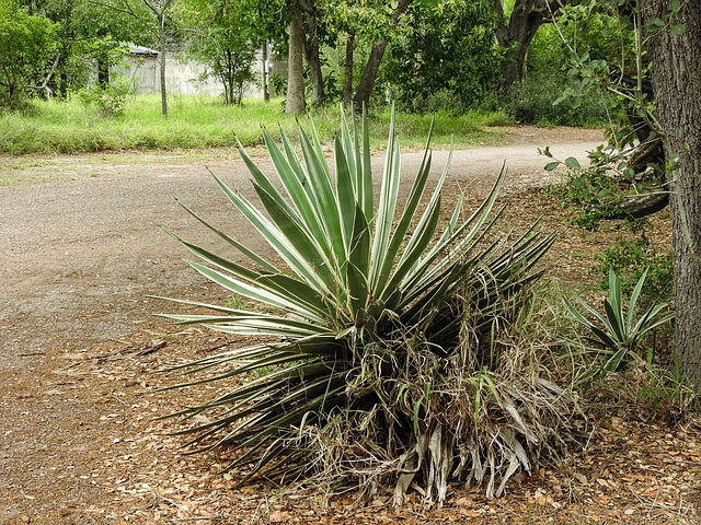
M 550 174 L 542 170 L 538 147 L 550 144 L 556 156 L 583 159 L 601 137 L 579 129 L 516 128 L 512 133 L 510 145 L 455 152 L 449 183 L 481 192 L 506 162 L 507 188 L 542 184 Z M 176 199 L 234 230 L 244 244 L 256 243 L 207 173 L 209 167 L 252 197 L 248 171 L 233 155 L 62 156 L 14 173 L 21 179 L 70 179 L 0 187 L 0 326 L 10 336 L 0 342 L 2 366 L 20 366 L 18 348 L 37 352 L 56 337 L 99 340 L 126 334 L 146 315 L 139 306 L 145 294 L 196 284 L 181 260 L 186 254 L 161 229 L 185 238 L 203 234 Z M 446 159 L 446 151 L 435 152 L 436 175 Z M 376 173 L 381 161 L 376 159 Z M 402 161 L 411 174 L 421 153 L 404 153 Z M 264 158 L 260 162 L 269 171 Z

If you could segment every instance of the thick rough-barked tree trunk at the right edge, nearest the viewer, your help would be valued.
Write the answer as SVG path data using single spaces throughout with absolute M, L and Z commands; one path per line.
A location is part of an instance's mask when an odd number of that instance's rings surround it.
M 644 0 L 644 24 L 665 14 L 668 2 Z M 651 44 L 652 81 L 665 154 L 679 155 L 671 173 L 670 208 L 675 275 L 675 350 L 681 374 L 701 392 L 701 2 L 681 2 L 673 21 L 682 35 L 663 28 Z M 644 26 L 643 24 L 643 26 Z

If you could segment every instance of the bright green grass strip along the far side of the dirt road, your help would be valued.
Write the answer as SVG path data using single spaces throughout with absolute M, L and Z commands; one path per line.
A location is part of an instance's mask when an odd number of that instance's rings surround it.
M 336 132 L 336 106 L 313 109 L 312 115 L 323 141 Z M 397 131 L 402 145 L 424 147 L 430 115 L 401 114 Z M 387 137 L 389 108 L 371 115 L 371 136 Z M 85 153 L 124 150 L 171 150 L 223 148 L 235 145 L 235 136 L 244 145 L 261 144 L 262 126 L 277 136 L 278 124 L 287 133 L 296 130 L 295 117 L 283 112 L 281 100 L 266 104 L 248 100 L 242 106 L 226 106 L 219 98 L 171 95 L 169 117 L 161 115 L 158 95 L 131 96 L 125 114 L 105 118 L 79 97 L 68 102 L 33 101 L 31 110 L 0 114 L 0 153 Z M 495 142 L 504 133 L 498 128 L 508 119 L 499 113 L 471 112 L 463 116 L 438 114 L 434 147 L 447 147 L 452 133 L 458 147 Z M 383 141 L 372 144 L 382 148 Z

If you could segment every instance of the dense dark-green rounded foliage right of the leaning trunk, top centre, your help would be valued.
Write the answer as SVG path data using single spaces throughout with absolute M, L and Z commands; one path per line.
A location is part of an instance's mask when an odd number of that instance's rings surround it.
M 384 74 L 409 110 L 460 113 L 497 85 L 504 50 L 494 45 L 497 20 L 483 2 L 415 3 L 409 32 L 392 43 Z

